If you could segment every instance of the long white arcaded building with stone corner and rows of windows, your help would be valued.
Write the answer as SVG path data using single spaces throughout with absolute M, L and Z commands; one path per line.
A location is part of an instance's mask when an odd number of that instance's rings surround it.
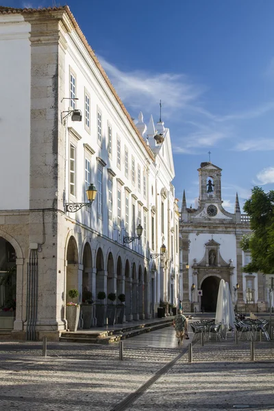
M 141 113 L 135 125 L 67 6 L 1 7 L 0 53 L 0 271 L 16 267 L 14 336 L 59 338 L 71 288 L 79 301 L 83 290 L 125 294 L 127 321 L 177 304 L 169 129 Z M 95 201 L 69 212 L 90 184 Z M 138 224 L 140 239 L 125 242 Z

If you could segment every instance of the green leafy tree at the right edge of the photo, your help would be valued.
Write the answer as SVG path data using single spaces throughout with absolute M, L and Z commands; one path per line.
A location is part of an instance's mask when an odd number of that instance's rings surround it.
M 252 230 L 252 234 L 243 236 L 241 241 L 242 249 L 251 252 L 251 262 L 243 267 L 243 271 L 273 274 L 274 190 L 264 192 L 262 188 L 254 187 L 243 209 L 250 217 Z

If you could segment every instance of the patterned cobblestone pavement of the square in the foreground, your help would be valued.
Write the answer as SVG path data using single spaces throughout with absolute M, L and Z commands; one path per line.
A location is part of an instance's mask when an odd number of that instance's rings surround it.
M 165 337 L 171 347 L 161 347 Z M 1 410 L 274 410 L 273 342 L 256 343 L 260 362 L 249 361 L 247 342 L 197 343 L 193 364 L 187 353 L 178 358 L 186 348 L 176 347 L 171 329 L 125 341 L 123 362 L 119 345 L 48 347 L 43 358 L 41 343 L 0 343 Z

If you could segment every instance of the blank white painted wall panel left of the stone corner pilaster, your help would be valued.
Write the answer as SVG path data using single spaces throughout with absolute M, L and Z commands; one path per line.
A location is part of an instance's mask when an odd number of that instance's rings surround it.
M 0 17 L 0 210 L 29 208 L 29 30 L 22 16 Z

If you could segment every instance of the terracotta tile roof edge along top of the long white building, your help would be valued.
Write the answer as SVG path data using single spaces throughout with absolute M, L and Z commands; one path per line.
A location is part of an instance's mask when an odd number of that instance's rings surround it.
M 97 69 L 99 69 L 101 75 L 103 76 L 103 79 L 108 84 L 110 90 L 112 90 L 112 93 L 113 93 L 114 97 L 116 98 L 119 105 L 121 106 L 121 109 L 123 110 L 125 116 L 127 117 L 127 120 L 129 121 L 130 125 L 132 125 L 132 127 L 133 127 L 134 131 L 136 132 L 140 142 L 145 147 L 145 149 L 146 149 L 147 153 L 149 154 L 150 158 L 152 160 L 155 160 L 155 157 L 154 157 L 153 151 L 151 150 L 151 147 L 147 146 L 145 140 L 142 138 L 142 136 L 140 136 L 140 134 L 138 132 L 138 129 L 137 129 L 136 125 L 134 124 L 134 121 L 132 121 L 132 117 L 129 115 L 129 112 L 127 112 L 127 109 L 125 108 L 125 105 L 123 104 L 123 101 L 121 101 L 121 99 L 120 99 L 119 95 L 117 94 L 114 86 L 110 82 L 110 79 L 108 78 L 108 75 L 105 73 L 103 67 L 101 66 L 99 60 L 96 57 L 95 52 L 92 50 L 92 48 L 88 44 L 88 41 L 86 40 L 86 37 L 84 36 L 82 30 L 80 29 L 77 21 L 74 18 L 71 10 L 69 9 L 69 6 L 64 5 L 64 6 L 60 6 L 60 7 L 38 8 L 38 9 L 34 9 L 34 8 L 20 9 L 20 8 L 5 7 L 3 5 L 0 5 L 0 14 L 31 14 L 31 13 L 36 13 L 36 12 L 39 12 L 39 13 L 54 12 L 54 11 L 58 11 L 58 10 L 64 10 L 64 12 L 66 12 L 66 14 L 68 14 L 69 18 L 71 19 L 71 23 L 73 24 L 73 27 L 75 28 L 75 32 L 77 32 L 79 38 L 82 40 L 84 46 L 86 47 L 88 53 L 90 54 L 90 57 L 95 62 L 95 65 L 97 66 Z

